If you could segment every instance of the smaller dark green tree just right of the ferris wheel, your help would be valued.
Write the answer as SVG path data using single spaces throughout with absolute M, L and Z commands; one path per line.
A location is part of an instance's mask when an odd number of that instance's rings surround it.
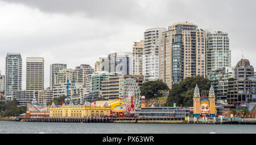
M 141 86 L 141 95 L 146 96 L 147 99 L 159 97 L 160 92 L 163 91 L 170 91 L 170 89 L 162 80 L 144 82 Z

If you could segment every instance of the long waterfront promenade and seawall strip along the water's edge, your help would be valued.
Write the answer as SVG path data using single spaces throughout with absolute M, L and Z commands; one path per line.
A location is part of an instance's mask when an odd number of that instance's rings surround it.
M 11 121 L 20 122 L 81 122 L 81 123 L 189 123 L 189 124 L 251 124 L 256 125 L 255 118 L 220 118 L 220 117 L 14 117 Z

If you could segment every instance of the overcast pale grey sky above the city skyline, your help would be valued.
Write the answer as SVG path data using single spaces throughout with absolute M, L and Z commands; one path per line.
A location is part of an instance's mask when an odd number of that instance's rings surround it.
M 232 66 L 243 56 L 256 67 L 255 1 L 206 0 L 0 0 L 0 71 L 7 53 L 20 53 L 23 89 L 26 58 L 44 57 L 44 88 L 49 67 L 66 63 L 94 68 L 98 57 L 131 52 L 143 32 L 178 22 L 229 34 Z

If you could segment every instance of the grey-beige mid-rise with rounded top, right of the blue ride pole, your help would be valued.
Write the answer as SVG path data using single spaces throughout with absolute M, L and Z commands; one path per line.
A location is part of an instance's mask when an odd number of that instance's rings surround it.
M 83 87 L 86 85 L 86 75 L 92 74 L 94 72 L 92 66 L 90 65 L 80 65 L 77 66 L 73 72 L 73 81 L 76 83 L 81 83 Z

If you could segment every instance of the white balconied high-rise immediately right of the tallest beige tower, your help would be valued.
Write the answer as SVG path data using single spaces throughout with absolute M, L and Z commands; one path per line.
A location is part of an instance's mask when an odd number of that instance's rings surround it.
M 228 33 L 221 31 L 206 32 L 206 67 L 207 75 L 221 67 L 231 65 Z

